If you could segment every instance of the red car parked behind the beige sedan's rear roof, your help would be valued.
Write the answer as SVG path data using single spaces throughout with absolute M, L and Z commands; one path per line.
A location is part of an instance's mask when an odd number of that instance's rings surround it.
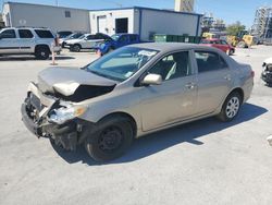
M 219 38 L 202 39 L 200 45 L 218 48 L 228 56 L 232 56 L 235 52 L 235 48 L 233 46 Z

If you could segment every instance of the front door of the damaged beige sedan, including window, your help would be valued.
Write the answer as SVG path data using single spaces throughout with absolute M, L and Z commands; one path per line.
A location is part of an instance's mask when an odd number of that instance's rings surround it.
M 189 51 L 162 58 L 148 73 L 160 74 L 161 85 L 140 91 L 143 130 L 150 131 L 190 118 L 196 111 L 197 87 Z

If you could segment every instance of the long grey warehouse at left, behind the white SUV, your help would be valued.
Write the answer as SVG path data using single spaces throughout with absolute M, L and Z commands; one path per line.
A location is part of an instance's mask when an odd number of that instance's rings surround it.
M 88 10 L 5 2 L 2 16 L 5 26 L 49 27 L 53 32 L 90 32 Z

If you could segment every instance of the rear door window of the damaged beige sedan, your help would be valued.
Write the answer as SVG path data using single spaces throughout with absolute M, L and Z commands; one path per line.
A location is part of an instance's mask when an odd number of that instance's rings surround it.
M 227 68 L 224 59 L 217 52 L 195 51 L 195 57 L 198 65 L 198 73 L 218 71 Z

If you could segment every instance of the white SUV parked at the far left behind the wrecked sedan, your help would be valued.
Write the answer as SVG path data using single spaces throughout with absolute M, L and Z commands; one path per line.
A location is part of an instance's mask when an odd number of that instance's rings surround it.
M 60 52 L 61 47 L 48 28 L 9 27 L 0 31 L 0 55 L 34 55 L 46 60 L 52 51 Z

